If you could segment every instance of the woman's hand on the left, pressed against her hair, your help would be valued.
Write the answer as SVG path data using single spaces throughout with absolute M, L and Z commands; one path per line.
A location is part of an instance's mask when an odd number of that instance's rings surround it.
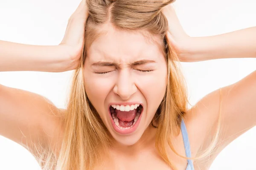
M 84 47 L 84 31 L 89 11 L 86 0 L 82 0 L 76 11 L 68 20 L 65 35 L 59 46 L 69 56 L 71 61 L 69 70 L 76 69 Z

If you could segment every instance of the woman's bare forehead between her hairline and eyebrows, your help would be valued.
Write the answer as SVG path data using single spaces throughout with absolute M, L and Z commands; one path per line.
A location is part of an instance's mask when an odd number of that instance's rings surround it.
M 156 60 L 163 57 L 160 38 L 146 31 L 125 31 L 105 28 L 87 50 L 90 62 L 131 62 L 137 59 Z

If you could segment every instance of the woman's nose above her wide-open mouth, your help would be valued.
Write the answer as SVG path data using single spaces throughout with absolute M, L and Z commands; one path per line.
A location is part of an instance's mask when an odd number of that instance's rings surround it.
M 123 100 L 129 99 L 137 91 L 137 87 L 128 70 L 119 72 L 113 91 Z

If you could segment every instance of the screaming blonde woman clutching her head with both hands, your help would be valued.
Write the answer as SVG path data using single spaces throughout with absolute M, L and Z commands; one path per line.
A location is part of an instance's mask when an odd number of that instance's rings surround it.
M 67 110 L 1 86 L 0 134 L 46 169 L 207 169 L 256 124 L 256 72 L 187 109 L 177 61 L 255 57 L 256 28 L 189 37 L 169 3 L 82 1 L 58 46 L 1 41 L 0 71 L 76 71 Z

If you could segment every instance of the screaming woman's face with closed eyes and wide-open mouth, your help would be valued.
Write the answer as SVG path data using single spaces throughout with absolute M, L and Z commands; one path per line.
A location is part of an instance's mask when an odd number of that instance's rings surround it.
M 106 30 L 87 51 L 85 89 L 113 138 L 132 145 L 141 138 L 164 97 L 166 60 L 159 45 L 140 32 Z

